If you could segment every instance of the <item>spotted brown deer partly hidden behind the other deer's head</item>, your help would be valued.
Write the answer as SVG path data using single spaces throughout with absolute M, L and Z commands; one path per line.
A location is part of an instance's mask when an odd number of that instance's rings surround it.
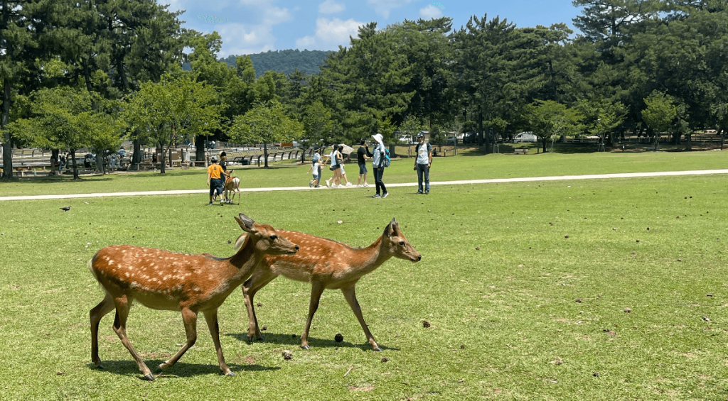
M 400 230 L 400 225 L 392 219 L 384 229 L 381 237 L 367 248 L 352 248 L 345 243 L 336 242 L 328 238 L 321 238 L 303 232 L 279 230 L 280 235 L 292 240 L 301 246 L 295 255 L 268 255 L 258 265 L 250 279 L 242 285 L 245 296 L 245 309 L 248 311 L 248 341 L 253 336 L 264 340 L 258 328 L 256 310 L 253 307 L 253 298 L 266 284 L 274 278 L 283 275 L 291 280 L 311 283 L 311 299 L 309 300 L 309 317 L 306 327 L 301 333 L 301 348 L 309 349 L 309 329 L 319 300 L 325 289 L 341 290 L 349 307 L 359 320 L 368 343 L 374 351 L 381 351 L 379 344 L 374 340 L 371 331 L 364 321 L 362 310 L 356 296 L 356 284 L 363 275 L 376 270 L 387 262 L 392 256 L 419 262 L 422 255 L 409 243 Z M 245 241 L 246 235 L 241 235 L 236 241 Z

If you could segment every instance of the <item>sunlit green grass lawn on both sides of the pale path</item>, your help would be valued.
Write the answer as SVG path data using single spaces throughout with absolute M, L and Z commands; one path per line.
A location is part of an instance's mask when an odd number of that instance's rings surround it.
M 451 167 L 438 171 L 437 179 L 707 169 L 724 160 L 716 153 L 660 156 L 643 154 L 639 163 L 629 155 L 589 155 L 567 163 L 546 155 L 554 163 L 541 164 L 537 156 L 461 157 L 438 160 Z M 585 166 L 587 160 L 594 162 Z M 411 171 L 405 164 L 393 163 L 387 174 L 407 178 Z M 300 177 L 280 185 L 307 182 L 305 168 L 291 169 L 301 169 Z M 281 171 L 272 174 L 282 177 Z M 179 175 L 180 182 L 199 182 Z M 726 399 L 728 177 L 459 185 L 433 187 L 428 196 L 413 192 L 392 188 L 386 199 L 367 198 L 373 188 L 248 193 L 240 207 L 209 208 L 202 207 L 205 199 L 199 195 L 4 203 L 2 398 Z M 58 210 L 69 204 L 71 211 Z M 392 259 L 365 276 L 357 291 L 384 352 L 371 351 L 336 291 L 323 295 L 309 336 L 312 348 L 298 349 L 310 288 L 277 278 L 256 296 L 266 342 L 245 341 L 240 292 L 220 309 L 223 351 L 237 377 L 218 376 L 202 319 L 197 344 L 149 383 L 139 380 L 136 364 L 111 330 L 109 314 L 100 327 L 100 357 L 107 369 L 93 369 L 88 311 L 102 293 L 86 264 L 95 251 L 128 243 L 229 256 L 228 241 L 242 232 L 232 218 L 239 212 L 352 246 L 367 246 L 396 217 L 422 262 Z M 430 328 L 423 327 L 424 320 Z M 127 328 L 150 368 L 185 339 L 176 312 L 134 307 Z M 343 343 L 333 341 L 336 333 L 343 334 Z M 285 349 L 293 352 L 292 360 L 281 357 Z

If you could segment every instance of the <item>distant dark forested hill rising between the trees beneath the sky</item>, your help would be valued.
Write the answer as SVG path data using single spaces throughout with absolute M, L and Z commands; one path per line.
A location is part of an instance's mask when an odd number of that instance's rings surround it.
M 319 73 L 319 66 L 323 65 L 323 60 L 328 57 L 331 52 L 323 52 L 321 50 L 276 50 L 264 53 L 250 54 L 250 60 L 253 61 L 253 68 L 256 69 L 256 75 L 261 76 L 268 70 L 274 70 L 281 73 L 292 73 L 293 68 L 303 71 L 306 74 Z M 235 65 L 234 54 L 221 59 L 229 65 Z

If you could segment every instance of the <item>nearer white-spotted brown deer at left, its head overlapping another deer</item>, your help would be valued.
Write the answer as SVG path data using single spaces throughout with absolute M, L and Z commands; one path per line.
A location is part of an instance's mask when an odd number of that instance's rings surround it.
M 89 312 L 91 360 L 98 368 L 104 368 L 98 357 L 98 325 L 104 315 L 116 309 L 114 332 L 137 363 L 143 380 L 154 380 L 127 337 L 127 317 L 132 301 L 136 300 L 151 309 L 182 313 L 187 342 L 177 354 L 159 365 L 159 372 L 174 365 L 197 341 L 197 314 L 202 312 L 215 343 L 221 373 L 235 376 L 226 365 L 220 346 L 218 307 L 250 278 L 264 256 L 293 255 L 299 249 L 273 227 L 258 224 L 245 214 L 236 216 L 235 220 L 247 234 L 240 250 L 229 258 L 130 245 L 106 246 L 92 257 L 89 268 L 106 292 L 103 301 Z

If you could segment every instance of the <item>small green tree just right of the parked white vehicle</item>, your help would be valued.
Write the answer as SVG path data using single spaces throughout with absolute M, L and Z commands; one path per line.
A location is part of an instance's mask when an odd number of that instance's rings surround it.
M 547 151 L 547 141 L 553 143 L 559 136 L 572 134 L 576 130 L 577 113 L 566 108 L 566 105 L 553 100 L 539 100 L 527 110 L 529 125 L 534 134 L 541 139 L 544 153 Z

